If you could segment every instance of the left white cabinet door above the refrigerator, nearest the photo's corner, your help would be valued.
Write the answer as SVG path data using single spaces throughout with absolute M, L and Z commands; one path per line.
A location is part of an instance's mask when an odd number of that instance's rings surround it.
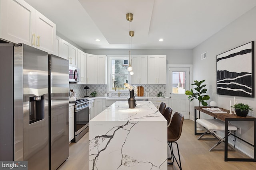
M 35 9 L 24 0 L 1 0 L 0 36 L 13 43 L 35 43 Z

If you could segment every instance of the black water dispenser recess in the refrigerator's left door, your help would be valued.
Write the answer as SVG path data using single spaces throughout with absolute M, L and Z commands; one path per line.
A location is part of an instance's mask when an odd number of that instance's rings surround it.
M 44 119 L 44 96 L 29 97 L 29 124 Z

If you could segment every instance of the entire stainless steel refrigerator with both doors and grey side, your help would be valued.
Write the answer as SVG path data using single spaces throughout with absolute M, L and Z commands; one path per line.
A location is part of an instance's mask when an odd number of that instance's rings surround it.
M 29 170 L 51 169 L 51 163 L 64 162 L 69 154 L 68 61 L 58 62 L 67 67 L 66 74 L 64 68 L 58 73 L 59 67 L 55 72 L 51 64 L 56 61 L 49 62 L 52 57 L 48 53 L 2 41 L 0 59 L 0 92 L 4 96 L 0 98 L 0 160 L 27 160 Z M 59 156 L 56 150 L 61 152 Z

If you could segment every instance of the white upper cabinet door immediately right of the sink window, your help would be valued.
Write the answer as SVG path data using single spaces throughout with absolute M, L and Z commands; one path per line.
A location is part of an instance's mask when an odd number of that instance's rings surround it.
M 148 84 L 148 56 L 132 56 L 132 84 Z

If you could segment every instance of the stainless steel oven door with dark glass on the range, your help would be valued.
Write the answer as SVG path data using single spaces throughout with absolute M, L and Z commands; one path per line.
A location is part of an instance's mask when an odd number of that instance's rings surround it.
M 81 133 L 89 126 L 89 105 L 75 110 L 75 135 Z

